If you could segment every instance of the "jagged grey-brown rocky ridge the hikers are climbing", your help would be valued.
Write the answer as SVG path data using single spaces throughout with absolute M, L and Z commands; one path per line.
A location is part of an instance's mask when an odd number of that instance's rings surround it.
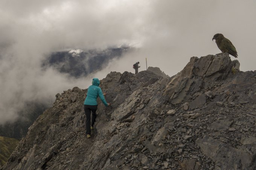
M 233 72 L 236 66 L 236 72 Z M 192 57 L 171 78 L 158 68 L 101 80 L 90 139 L 87 89 L 56 95 L 2 169 L 256 169 L 256 72 L 228 55 Z

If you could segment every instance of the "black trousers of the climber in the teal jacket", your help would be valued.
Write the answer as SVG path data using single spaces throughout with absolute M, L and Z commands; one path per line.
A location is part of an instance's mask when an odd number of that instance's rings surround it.
M 96 110 L 98 105 L 87 105 L 84 104 L 84 113 L 86 115 L 86 133 L 91 134 L 91 126 L 93 127 L 94 123 L 96 122 Z M 91 116 L 92 112 L 92 116 Z

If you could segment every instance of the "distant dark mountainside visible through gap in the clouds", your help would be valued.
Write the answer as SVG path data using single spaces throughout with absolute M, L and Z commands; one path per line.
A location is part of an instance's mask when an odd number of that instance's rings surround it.
M 130 47 L 108 48 L 105 50 L 75 49 L 52 53 L 44 62 L 43 67 L 53 67 L 61 73 L 73 77 L 87 76 L 101 70 L 113 58 L 120 58 Z

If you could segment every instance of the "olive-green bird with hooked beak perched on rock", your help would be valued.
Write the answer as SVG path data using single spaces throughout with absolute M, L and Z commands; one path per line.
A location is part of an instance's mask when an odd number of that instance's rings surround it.
M 230 55 L 233 55 L 235 58 L 237 58 L 238 55 L 235 46 L 229 39 L 225 38 L 223 34 L 215 34 L 212 40 L 215 40 L 221 52 L 228 52 Z

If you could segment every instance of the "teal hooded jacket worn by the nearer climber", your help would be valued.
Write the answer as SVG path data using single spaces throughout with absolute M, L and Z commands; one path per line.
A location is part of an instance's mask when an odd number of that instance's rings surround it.
M 93 78 L 92 85 L 88 87 L 87 97 L 85 98 L 84 104 L 87 105 L 98 105 L 97 97 L 99 97 L 105 106 L 108 106 L 107 101 L 104 98 L 101 88 L 99 87 L 99 79 Z

